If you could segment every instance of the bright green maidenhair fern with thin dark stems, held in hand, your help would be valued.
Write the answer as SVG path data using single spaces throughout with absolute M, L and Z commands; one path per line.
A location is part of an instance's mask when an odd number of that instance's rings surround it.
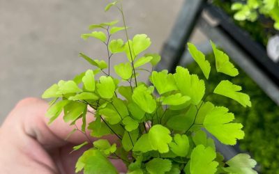
M 241 86 L 228 80 L 206 93 L 205 81 L 210 83 L 211 65 L 195 45 L 188 43 L 193 56 L 205 79 L 190 74 L 186 68 L 178 66 L 171 74 L 167 70 L 153 71 L 149 83 L 138 81 L 143 65 L 158 64 L 158 54 L 144 54 L 151 45 L 150 38 L 138 34 L 128 38 L 123 9 L 119 1 L 108 4 L 105 11 L 117 8 L 123 17 L 124 26 L 116 26 L 118 21 L 93 24 L 91 33 L 82 34 L 84 40 L 92 38 L 107 47 L 107 62 L 92 59 L 86 54 L 80 56 L 94 68 L 86 70 L 68 81 L 59 81 L 45 90 L 43 98 L 53 98 L 47 117 L 52 123 L 63 111 L 63 120 L 75 125 L 82 120 L 79 130 L 98 138 L 86 141 L 73 150 L 90 145 L 78 159 L 76 172 L 118 173 L 110 159 L 121 159 L 127 172 L 137 173 L 257 173 L 252 168 L 256 161 L 247 154 L 239 154 L 229 161 L 216 152 L 209 132 L 225 145 L 235 145 L 243 139 L 243 126 L 233 122 L 234 114 L 224 106 L 215 106 L 206 100 L 208 95 L 223 95 L 236 100 L 242 106 L 251 106 L 250 97 L 241 92 Z M 126 41 L 114 39 L 114 33 L 123 31 Z M 211 42 L 216 58 L 216 69 L 220 73 L 235 77 L 239 74 L 229 57 Z M 114 54 L 122 54 L 127 61 L 110 64 Z M 112 68 L 117 77 L 112 77 Z M 97 78 L 99 77 L 99 78 Z M 86 120 L 86 113 L 93 113 L 93 121 Z M 91 114 L 92 115 L 92 114 Z M 114 134 L 118 143 L 110 143 L 103 136 Z M 116 145 L 117 144 L 117 145 Z

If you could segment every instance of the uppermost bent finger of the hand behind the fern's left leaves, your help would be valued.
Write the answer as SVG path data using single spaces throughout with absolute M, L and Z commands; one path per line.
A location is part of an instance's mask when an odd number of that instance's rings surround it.
M 49 121 L 45 117 L 45 113 L 49 105 L 44 100 L 38 98 L 27 98 L 22 100 L 15 106 L 15 109 L 11 111 L 6 121 L 3 123 L 3 129 L 10 129 L 10 127 L 21 127 L 20 131 L 24 132 L 33 139 L 36 139 L 45 148 L 54 148 L 66 143 L 83 143 L 87 141 L 87 137 L 81 132 L 73 133 L 67 141 L 66 137 L 73 129 L 75 125 L 69 125 L 64 122 L 63 114 L 59 116 L 52 125 L 47 125 Z M 86 115 L 87 120 L 93 120 L 91 113 Z M 81 121 L 77 121 L 77 127 L 82 125 Z M 86 130 L 86 134 L 89 135 L 89 131 Z M 114 136 L 107 137 L 110 141 L 115 141 Z M 92 139 L 93 141 L 94 139 Z

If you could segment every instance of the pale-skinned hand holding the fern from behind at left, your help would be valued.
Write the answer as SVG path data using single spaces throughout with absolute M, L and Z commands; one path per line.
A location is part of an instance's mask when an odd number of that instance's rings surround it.
M 48 106 L 43 100 L 27 98 L 18 102 L 8 114 L 0 128 L 0 173 L 75 173 L 78 157 L 90 147 L 71 154 L 69 152 L 74 145 L 89 140 L 81 132 L 75 132 L 65 141 L 75 126 L 65 123 L 63 116 L 59 116 L 52 125 L 47 125 L 45 113 Z M 93 116 L 87 115 L 87 118 L 93 119 Z M 80 124 L 77 122 L 77 127 Z M 117 140 L 115 136 L 105 138 L 112 143 Z M 126 171 L 121 160 L 115 159 L 112 164 L 119 172 Z

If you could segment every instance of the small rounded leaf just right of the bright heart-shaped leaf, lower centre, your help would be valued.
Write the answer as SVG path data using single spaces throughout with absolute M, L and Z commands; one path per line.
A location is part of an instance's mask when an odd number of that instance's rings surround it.
M 175 134 L 174 142 L 169 143 L 169 147 L 179 157 L 186 157 L 189 151 L 189 140 L 186 135 Z

